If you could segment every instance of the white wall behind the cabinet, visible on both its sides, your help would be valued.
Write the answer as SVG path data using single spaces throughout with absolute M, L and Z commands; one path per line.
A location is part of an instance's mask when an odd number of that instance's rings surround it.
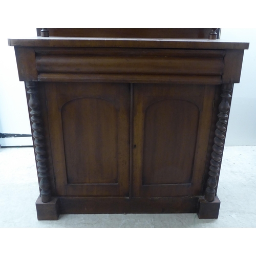
M 14 48 L 8 46 L 7 38 L 36 36 L 36 29 L 4 27 L 0 36 L 0 132 L 31 134 L 24 82 L 18 80 Z M 240 83 L 234 85 L 226 145 L 256 145 L 256 29 L 224 28 L 221 39 L 250 42 Z M 0 139 L 0 144 L 32 145 L 32 139 Z

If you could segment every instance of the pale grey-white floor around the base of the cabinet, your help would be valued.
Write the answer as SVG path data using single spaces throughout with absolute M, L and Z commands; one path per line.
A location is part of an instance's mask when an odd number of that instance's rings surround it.
M 256 146 L 225 147 L 217 220 L 196 214 L 61 215 L 37 221 L 33 148 L 0 148 L 0 227 L 256 227 Z

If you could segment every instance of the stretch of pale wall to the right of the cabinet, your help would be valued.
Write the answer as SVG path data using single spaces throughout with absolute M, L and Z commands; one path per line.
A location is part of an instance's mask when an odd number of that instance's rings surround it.
M 240 83 L 234 84 L 226 146 L 256 145 L 256 29 L 221 29 L 221 39 L 249 42 Z

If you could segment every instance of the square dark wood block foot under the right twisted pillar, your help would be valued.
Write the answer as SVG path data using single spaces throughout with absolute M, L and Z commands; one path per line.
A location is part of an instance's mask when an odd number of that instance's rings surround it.
M 220 210 L 220 200 L 215 196 L 214 201 L 208 202 L 203 197 L 199 199 L 198 218 L 199 219 L 218 219 Z

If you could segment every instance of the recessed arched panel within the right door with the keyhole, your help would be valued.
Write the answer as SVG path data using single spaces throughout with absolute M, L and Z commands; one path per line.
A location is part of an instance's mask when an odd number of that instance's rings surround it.
M 148 106 L 144 122 L 143 185 L 190 183 L 198 121 L 197 105 L 185 100 L 162 100 Z

